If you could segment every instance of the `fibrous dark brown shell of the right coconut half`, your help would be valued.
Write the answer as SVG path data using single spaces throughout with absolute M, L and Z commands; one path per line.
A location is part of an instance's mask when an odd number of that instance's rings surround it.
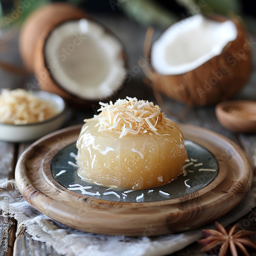
M 224 22 L 227 17 L 214 15 L 209 19 Z M 245 85 L 251 72 L 251 46 L 246 30 L 237 19 L 232 22 L 238 29 L 238 36 L 228 42 L 222 53 L 200 67 L 180 75 L 160 75 L 150 61 L 142 67 L 144 74 L 152 81 L 154 90 L 189 105 L 214 105 L 237 94 Z M 145 50 L 150 56 L 151 49 Z

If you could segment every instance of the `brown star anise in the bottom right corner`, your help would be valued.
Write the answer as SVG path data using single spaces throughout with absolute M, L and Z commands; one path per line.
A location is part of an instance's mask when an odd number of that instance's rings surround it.
M 219 256 L 226 256 L 228 253 L 228 249 L 230 249 L 230 253 L 232 256 L 237 256 L 238 249 L 243 253 L 243 255 L 250 256 L 245 246 L 250 247 L 256 250 L 256 244 L 254 244 L 248 237 L 252 234 L 256 233 L 254 231 L 249 230 L 238 230 L 238 224 L 234 225 L 229 232 L 217 221 L 215 222 L 214 229 L 204 229 L 202 230 L 204 239 L 198 240 L 198 243 L 202 248 L 202 252 L 206 252 L 220 247 Z

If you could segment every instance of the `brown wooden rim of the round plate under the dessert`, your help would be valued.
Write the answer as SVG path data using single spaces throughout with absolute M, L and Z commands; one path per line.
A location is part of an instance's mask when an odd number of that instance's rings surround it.
M 109 201 L 60 185 L 50 171 L 50 162 L 77 140 L 81 125 L 47 135 L 28 147 L 16 166 L 17 186 L 45 215 L 88 232 L 157 236 L 200 227 L 241 202 L 251 186 L 252 167 L 244 151 L 222 135 L 193 125 L 180 124 L 180 128 L 186 139 L 207 148 L 219 163 L 216 179 L 188 195 L 153 202 Z

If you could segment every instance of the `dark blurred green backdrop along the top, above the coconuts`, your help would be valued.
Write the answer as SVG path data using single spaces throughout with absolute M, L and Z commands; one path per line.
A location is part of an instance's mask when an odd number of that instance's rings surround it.
M 36 8 L 53 2 L 69 3 L 89 14 L 125 16 L 141 26 L 155 25 L 161 28 L 196 13 L 240 15 L 250 31 L 256 32 L 256 8 L 254 1 L 250 0 L 2 0 L 1 27 L 20 24 Z

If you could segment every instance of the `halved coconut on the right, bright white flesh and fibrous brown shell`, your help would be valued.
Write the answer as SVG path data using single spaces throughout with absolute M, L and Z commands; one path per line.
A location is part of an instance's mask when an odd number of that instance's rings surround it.
M 198 14 L 163 32 L 147 52 L 151 59 L 144 73 L 170 98 L 215 104 L 244 86 L 251 70 L 250 48 L 237 20 Z

